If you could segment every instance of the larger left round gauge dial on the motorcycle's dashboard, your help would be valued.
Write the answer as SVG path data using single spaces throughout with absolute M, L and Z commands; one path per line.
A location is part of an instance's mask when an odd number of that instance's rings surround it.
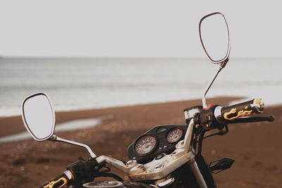
M 135 151 L 139 156 L 145 156 L 153 151 L 157 146 L 157 139 L 150 135 L 145 135 L 138 139 L 135 144 Z

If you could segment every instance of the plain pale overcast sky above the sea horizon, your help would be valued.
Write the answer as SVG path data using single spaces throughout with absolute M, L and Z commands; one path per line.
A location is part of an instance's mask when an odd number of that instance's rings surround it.
M 200 18 L 222 12 L 231 56 L 281 57 L 280 1 L 0 0 L 0 56 L 202 57 Z

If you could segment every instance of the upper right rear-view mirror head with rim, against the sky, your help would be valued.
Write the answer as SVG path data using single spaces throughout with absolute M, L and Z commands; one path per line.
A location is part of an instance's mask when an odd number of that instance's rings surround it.
M 211 13 L 200 20 L 200 39 L 212 63 L 226 61 L 230 53 L 230 37 L 226 19 L 221 13 Z

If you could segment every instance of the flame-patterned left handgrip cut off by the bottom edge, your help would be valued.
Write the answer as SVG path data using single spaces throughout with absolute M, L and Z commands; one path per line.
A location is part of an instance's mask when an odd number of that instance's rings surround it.
M 68 185 L 70 183 L 71 179 L 72 179 L 71 172 L 67 170 L 62 175 L 60 175 L 60 176 L 54 178 L 53 180 L 43 184 L 39 188 L 63 188 L 63 187 L 66 187 L 66 185 Z

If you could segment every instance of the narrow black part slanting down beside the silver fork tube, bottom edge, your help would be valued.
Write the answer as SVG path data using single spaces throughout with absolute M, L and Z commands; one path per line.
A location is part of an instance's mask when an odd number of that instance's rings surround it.
M 204 157 L 201 154 L 197 154 L 195 156 L 195 161 L 197 162 L 197 166 L 204 178 L 204 182 L 207 184 L 207 187 L 216 188 L 216 182 L 214 182 L 214 177 L 212 177 L 212 172 Z

